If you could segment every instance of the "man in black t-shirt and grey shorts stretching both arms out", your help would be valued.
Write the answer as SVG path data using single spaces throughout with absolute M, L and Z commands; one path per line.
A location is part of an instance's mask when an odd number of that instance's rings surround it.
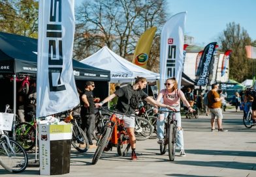
M 118 103 L 116 109 L 120 113 L 135 115 L 135 110 L 138 107 L 138 101 L 140 99 L 145 100 L 146 102 L 152 103 L 152 105 L 159 105 L 161 107 L 167 107 L 170 110 L 172 109 L 169 105 L 156 102 L 153 98 L 150 98 L 142 89 L 146 88 L 148 81 L 144 77 L 136 77 L 134 85 L 126 85 L 125 87 L 118 88 L 114 94 L 106 97 L 101 103 L 95 103 L 96 107 L 101 107 L 104 103 L 109 102 L 116 96 L 118 96 Z M 124 126 L 129 135 L 129 140 L 131 143 L 131 159 L 136 160 L 136 137 L 135 137 L 135 116 L 123 116 Z

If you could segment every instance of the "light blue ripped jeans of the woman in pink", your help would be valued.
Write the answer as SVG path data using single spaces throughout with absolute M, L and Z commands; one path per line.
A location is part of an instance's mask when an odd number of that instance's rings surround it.
M 180 111 L 180 109 L 177 109 L 176 107 L 174 107 L 174 108 L 176 109 L 176 111 Z M 161 110 L 168 111 L 167 108 L 161 108 Z M 165 119 L 167 118 L 167 116 L 168 116 L 168 113 L 163 112 L 163 114 L 159 114 L 159 116 L 157 118 L 157 135 L 158 135 L 159 139 L 164 138 Z M 180 115 L 180 113 L 175 113 L 175 120 L 177 120 L 178 128 L 181 128 L 182 127 L 182 116 Z M 178 130 L 176 145 L 180 149 L 184 149 L 183 129 Z

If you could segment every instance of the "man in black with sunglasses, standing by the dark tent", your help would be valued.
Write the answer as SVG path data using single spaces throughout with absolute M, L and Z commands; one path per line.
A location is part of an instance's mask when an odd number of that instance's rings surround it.
M 93 131 L 95 128 L 95 115 L 94 115 L 94 102 L 93 102 L 93 89 L 95 85 L 93 81 L 86 81 L 86 88 L 82 94 L 82 106 L 81 107 L 81 128 L 86 131 L 86 135 L 89 141 L 89 148 L 95 148 L 93 144 Z M 85 144 L 80 144 L 85 146 Z

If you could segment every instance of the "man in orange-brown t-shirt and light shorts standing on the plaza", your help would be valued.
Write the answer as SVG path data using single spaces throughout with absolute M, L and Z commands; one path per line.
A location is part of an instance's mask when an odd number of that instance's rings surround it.
M 217 84 L 212 85 L 212 90 L 210 90 L 207 94 L 208 98 L 208 107 L 211 113 L 211 127 L 212 131 L 227 131 L 227 129 L 223 129 L 222 127 L 222 109 L 221 109 L 221 98 L 217 93 L 219 86 Z M 217 119 L 218 129 L 215 128 L 215 120 Z

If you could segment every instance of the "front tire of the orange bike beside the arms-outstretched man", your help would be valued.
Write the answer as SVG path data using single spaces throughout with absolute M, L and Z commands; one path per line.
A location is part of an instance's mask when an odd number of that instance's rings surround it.
M 112 128 L 107 126 L 103 133 L 103 137 L 101 137 L 99 143 L 97 144 L 98 146 L 93 156 L 93 160 L 91 162 L 93 165 L 97 163 L 97 161 L 101 157 L 101 154 L 103 154 L 103 150 L 106 147 L 106 144 L 108 143 L 111 133 L 112 133 Z

